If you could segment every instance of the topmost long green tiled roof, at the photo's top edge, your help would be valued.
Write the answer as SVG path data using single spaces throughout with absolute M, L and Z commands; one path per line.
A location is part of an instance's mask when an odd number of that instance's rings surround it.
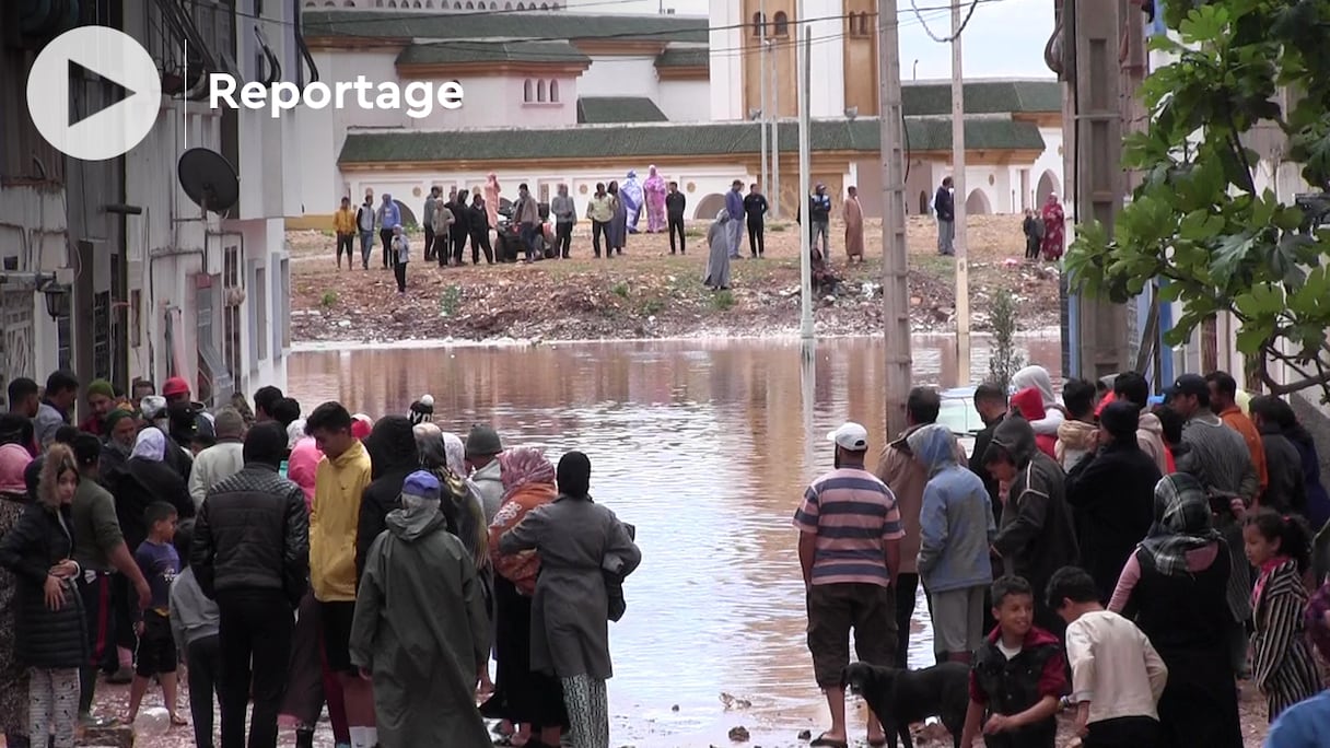
M 706 44 L 704 16 L 589 16 L 565 11 L 430 12 L 430 11 L 306 11 L 301 16 L 307 39 L 531 39 L 648 40 Z

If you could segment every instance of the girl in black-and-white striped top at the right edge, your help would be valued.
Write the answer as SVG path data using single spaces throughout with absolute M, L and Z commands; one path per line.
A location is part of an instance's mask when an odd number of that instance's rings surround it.
M 1242 543 L 1260 570 L 1252 591 L 1252 677 L 1266 697 L 1267 717 L 1321 691 L 1321 676 L 1303 636 L 1311 563 L 1311 532 L 1302 518 L 1261 510 L 1246 518 Z

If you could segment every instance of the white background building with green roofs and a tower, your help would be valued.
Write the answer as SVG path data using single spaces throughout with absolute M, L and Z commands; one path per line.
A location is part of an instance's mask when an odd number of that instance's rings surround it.
M 360 3 L 363 5 L 363 3 Z M 431 185 L 476 186 L 488 172 L 527 182 L 541 197 L 559 182 L 575 196 L 598 181 L 645 176 L 657 165 L 680 182 L 690 217 L 710 217 L 734 178 L 758 181 L 761 137 L 746 122 L 761 106 L 761 35 L 774 40 L 767 61 L 782 75 L 778 110 L 779 200 L 797 205 L 794 67 L 789 44 L 794 3 L 770 0 L 767 27 L 755 27 L 758 0 L 712 0 L 710 17 L 549 11 L 423 8 L 309 9 L 306 40 L 325 81 L 399 84 L 428 80 L 463 87 L 460 109 L 426 118 L 402 112 L 306 112 L 299 138 L 303 220 L 326 228 L 338 201 L 366 188 L 388 192 L 414 217 Z M 782 9 L 789 5 L 787 9 Z M 861 186 L 864 210 L 879 216 L 876 71 L 868 0 L 809 0 L 835 20 L 815 45 L 814 181 L 839 198 Z M 862 7 L 862 8 L 861 8 Z M 598 5 L 597 5 L 598 8 Z M 847 17 L 842 21 L 841 15 Z M 513 35 L 541 29 L 539 40 Z M 783 41 L 782 41 L 783 40 Z M 846 81 L 850 83 L 846 83 Z M 950 173 L 950 84 L 904 89 L 910 154 L 908 212 L 927 213 L 932 190 Z M 1056 81 L 972 81 L 966 91 L 967 205 L 971 213 L 1011 213 L 1039 205 L 1061 188 L 1061 92 Z M 632 128 L 622 128 L 633 124 Z M 598 125 L 606 125 L 600 128 Z M 620 126 L 609 126 L 620 125 Z M 821 133 L 821 134 L 818 134 Z M 335 154 L 330 157 L 329 154 Z M 767 190 L 773 193 L 775 190 Z

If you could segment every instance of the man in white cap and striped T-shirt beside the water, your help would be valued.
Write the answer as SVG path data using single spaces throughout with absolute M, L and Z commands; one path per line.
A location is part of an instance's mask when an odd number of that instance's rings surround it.
M 799 566 L 807 588 L 809 651 L 818 687 L 826 693 L 831 728 L 810 745 L 845 748 L 845 685 L 850 664 L 850 630 L 855 650 L 868 664 L 895 663 L 895 598 L 900 568 L 900 512 L 891 488 L 864 470 L 868 431 L 847 422 L 827 434 L 835 443 L 835 470 L 803 494 L 794 512 L 799 531 Z M 882 724 L 868 716 L 868 743 L 883 743 Z

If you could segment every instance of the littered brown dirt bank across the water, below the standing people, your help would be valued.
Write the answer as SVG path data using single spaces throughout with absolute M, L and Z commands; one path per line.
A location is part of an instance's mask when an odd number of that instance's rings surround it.
M 644 224 L 645 225 L 645 224 Z M 701 334 L 769 335 L 798 330 L 798 229 L 771 221 L 766 257 L 732 264 L 728 291 L 702 286 L 706 225 L 688 228 L 689 252 L 670 256 L 665 234 L 634 234 L 622 257 L 593 260 L 589 226 L 577 226 L 571 260 L 531 265 L 466 265 L 440 269 L 423 261 L 412 241 L 408 291 L 398 295 L 391 270 L 375 248 L 368 270 L 338 270 L 331 232 L 290 232 L 291 337 L 297 342 L 387 342 L 666 338 Z M 866 228 L 866 261 L 847 265 L 845 228 L 831 225 L 831 261 L 842 278 L 834 295 L 818 298 L 818 334 L 882 330 L 882 232 Z M 988 329 L 988 302 L 1008 289 L 1023 313 L 1021 327 L 1057 325 L 1057 269 L 1027 264 L 1020 217 L 970 220 L 970 289 L 975 330 Z M 936 254 L 936 228 L 908 225 L 910 310 L 916 331 L 947 330 L 955 311 L 955 261 Z M 356 248 L 359 256 L 359 248 Z M 467 250 L 469 261 L 469 248 Z

